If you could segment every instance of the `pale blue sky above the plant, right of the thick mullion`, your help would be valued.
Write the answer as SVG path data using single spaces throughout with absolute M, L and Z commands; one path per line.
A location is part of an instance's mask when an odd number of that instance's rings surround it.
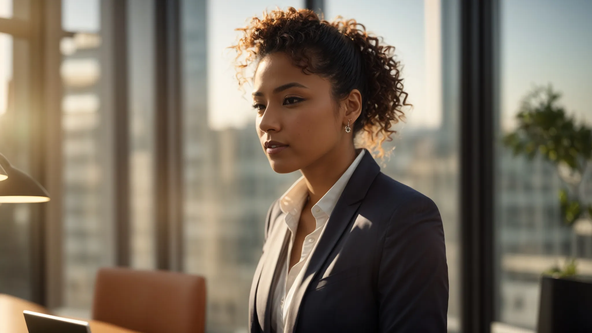
M 501 2 L 501 112 L 511 126 L 520 98 L 549 82 L 562 104 L 592 120 L 592 1 Z

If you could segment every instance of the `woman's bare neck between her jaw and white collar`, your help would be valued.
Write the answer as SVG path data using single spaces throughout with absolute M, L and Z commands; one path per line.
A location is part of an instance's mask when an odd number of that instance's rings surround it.
M 356 159 L 356 149 L 348 145 L 342 149 L 332 149 L 313 164 L 300 170 L 308 187 L 308 204 L 313 205 L 333 187 L 343 173 Z

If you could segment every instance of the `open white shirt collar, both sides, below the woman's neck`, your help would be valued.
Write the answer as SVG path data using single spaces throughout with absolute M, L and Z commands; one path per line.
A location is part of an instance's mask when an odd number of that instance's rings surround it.
M 345 186 L 348 184 L 349 178 L 352 177 L 353 171 L 355 171 L 356 167 L 358 167 L 358 164 L 362 160 L 365 149 L 359 150 L 360 152 L 358 153 L 358 156 L 353 160 L 352 164 L 349 165 L 348 169 L 343 172 L 343 175 L 339 177 L 339 180 L 337 180 L 329 191 L 327 191 L 327 193 L 325 193 L 325 195 L 313 206 L 312 213 L 317 221 L 321 215 L 326 214 L 328 217 L 333 212 L 337 200 L 339 200 Z M 302 209 L 306 196 L 307 188 L 303 175 L 280 197 L 279 208 L 284 213 L 297 212 Z

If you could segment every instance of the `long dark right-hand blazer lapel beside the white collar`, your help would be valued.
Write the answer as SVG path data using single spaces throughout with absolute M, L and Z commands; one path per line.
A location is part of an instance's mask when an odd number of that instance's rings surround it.
M 374 178 L 380 173 L 380 167 L 372 158 L 372 155 L 366 151 L 358 167 L 349 178 L 348 184 L 343 189 L 343 193 L 337 200 L 335 208 L 325 225 L 325 229 L 313 248 L 311 257 L 304 265 L 302 270 L 304 274 L 294 281 L 295 291 L 292 297 L 292 303 L 288 309 L 285 318 L 284 333 L 294 333 L 295 325 L 298 319 L 300 303 L 308 285 L 314 279 L 318 270 L 324 264 L 327 257 L 341 238 L 349 222 L 358 210 L 363 198 L 366 196 Z M 284 223 L 285 224 L 285 223 Z

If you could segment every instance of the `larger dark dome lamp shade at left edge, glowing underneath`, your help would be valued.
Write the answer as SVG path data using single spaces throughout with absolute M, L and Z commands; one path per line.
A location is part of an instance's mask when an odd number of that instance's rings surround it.
M 36 203 L 49 201 L 49 194 L 41 184 L 29 175 L 12 167 L 0 154 L 0 167 L 7 178 L 0 182 L 0 203 Z

